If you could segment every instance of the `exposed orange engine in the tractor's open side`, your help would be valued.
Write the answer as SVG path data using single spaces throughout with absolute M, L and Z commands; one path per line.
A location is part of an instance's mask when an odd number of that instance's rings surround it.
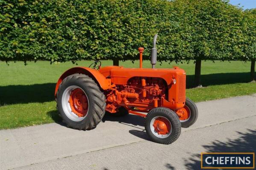
M 147 111 L 158 107 L 161 98 L 168 96 L 167 93 L 167 85 L 162 78 L 132 77 L 126 85 L 109 89 L 106 93 L 106 111 L 116 113 L 120 106 Z

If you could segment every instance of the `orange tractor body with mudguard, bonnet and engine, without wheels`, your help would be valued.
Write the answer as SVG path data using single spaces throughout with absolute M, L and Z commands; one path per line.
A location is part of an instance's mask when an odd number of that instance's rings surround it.
M 106 96 L 106 111 L 116 113 L 123 106 L 131 111 L 148 112 L 152 108 L 172 110 L 185 105 L 185 71 L 174 68 L 124 68 L 107 66 L 99 70 L 75 67 L 59 78 L 56 92 L 65 77 L 81 73 L 93 78 Z

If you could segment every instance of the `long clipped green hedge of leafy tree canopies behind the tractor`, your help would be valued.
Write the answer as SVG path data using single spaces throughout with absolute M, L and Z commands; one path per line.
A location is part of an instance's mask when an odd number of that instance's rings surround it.
M 0 0 L 0 60 L 134 60 L 141 46 L 149 59 L 156 33 L 158 60 L 232 60 L 248 51 L 242 14 L 226 0 Z

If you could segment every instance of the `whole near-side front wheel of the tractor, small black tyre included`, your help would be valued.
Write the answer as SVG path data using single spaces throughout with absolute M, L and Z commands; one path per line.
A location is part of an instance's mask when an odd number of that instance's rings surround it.
M 168 108 L 153 108 L 145 118 L 145 129 L 153 142 L 171 144 L 181 132 L 179 117 Z

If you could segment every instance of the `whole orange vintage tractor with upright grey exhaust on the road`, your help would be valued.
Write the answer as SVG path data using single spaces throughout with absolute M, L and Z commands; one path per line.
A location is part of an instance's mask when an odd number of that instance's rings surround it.
M 185 71 L 178 68 L 155 68 L 156 38 L 151 49 L 152 68 L 106 66 L 100 61 L 89 67 L 75 67 L 59 78 L 55 98 L 63 122 L 68 127 L 89 130 L 109 112 L 145 117 L 145 129 L 154 142 L 171 144 L 181 127 L 197 119 L 197 107 L 185 96 Z M 92 68 L 91 68 L 92 66 Z

